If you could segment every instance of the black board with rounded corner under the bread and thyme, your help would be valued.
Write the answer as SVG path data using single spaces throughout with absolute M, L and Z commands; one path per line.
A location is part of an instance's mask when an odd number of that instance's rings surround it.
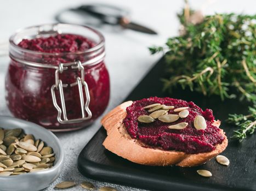
M 161 59 L 135 87 L 126 100 L 138 100 L 150 96 L 172 97 L 193 101 L 204 110 L 211 108 L 215 118 L 223 121 L 228 138 L 234 128 L 224 122 L 227 114 L 246 112 L 247 103 L 238 100 L 221 102 L 218 96 L 211 99 L 196 92 L 175 89 L 172 94 L 162 92 L 160 77 L 164 74 Z M 131 76 L 132 77 L 132 76 Z M 106 138 L 104 128 L 94 135 L 78 157 L 78 170 L 86 177 L 150 190 L 256 190 L 256 135 L 239 144 L 230 140 L 223 154 L 230 159 L 229 166 L 218 164 L 215 159 L 202 166 L 180 168 L 178 166 L 143 166 L 107 151 L 102 143 Z M 207 169 L 210 178 L 197 175 L 196 170 Z

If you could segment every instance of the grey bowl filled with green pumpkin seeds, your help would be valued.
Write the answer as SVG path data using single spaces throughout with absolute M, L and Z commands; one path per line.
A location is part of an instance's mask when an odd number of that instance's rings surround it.
M 64 151 L 35 123 L 0 116 L 0 190 L 41 190 L 59 177 Z

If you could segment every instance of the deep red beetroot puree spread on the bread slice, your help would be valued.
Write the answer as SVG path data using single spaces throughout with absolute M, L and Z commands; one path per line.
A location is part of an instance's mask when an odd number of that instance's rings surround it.
M 172 123 L 164 123 L 156 120 L 152 123 L 140 123 L 137 118 L 141 115 L 150 115 L 150 112 L 143 109 L 144 106 L 160 103 L 164 105 L 173 105 L 175 108 L 189 107 L 189 116 L 179 118 Z M 174 109 L 168 111 L 168 114 L 178 114 Z M 158 146 L 163 150 L 175 150 L 185 153 L 202 153 L 215 149 L 215 145 L 221 144 L 224 136 L 220 133 L 218 127 L 213 126 L 214 116 L 211 109 L 203 111 L 193 102 L 186 102 L 173 98 L 145 98 L 133 102 L 127 109 L 127 116 L 124 119 L 124 126 L 133 139 L 139 139 L 150 146 Z M 204 130 L 197 130 L 194 127 L 194 119 L 197 115 L 202 115 L 207 123 Z M 185 129 L 169 129 L 171 124 L 180 122 L 189 123 Z

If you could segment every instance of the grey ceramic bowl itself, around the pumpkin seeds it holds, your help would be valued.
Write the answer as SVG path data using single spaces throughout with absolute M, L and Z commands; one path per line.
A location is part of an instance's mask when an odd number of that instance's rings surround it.
M 52 168 L 47 170 L 14 176 L 0 176 L 0 190 L 41 190 L 59 177 L 64 164 L 64 151 L 60 141 L 52 132 L 35 123 L 13 117 L 0 116 L 0 127 L 4 129 L 22 128 L 26 134 L 33 134 L 35 139 L 41 139 L 53 148 L 56 158 Z

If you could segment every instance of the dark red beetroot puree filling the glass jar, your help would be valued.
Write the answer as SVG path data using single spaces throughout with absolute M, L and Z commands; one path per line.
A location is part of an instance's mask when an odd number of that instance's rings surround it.
M 60 55 L 43 55 L 25 53 L 25 59 L 52 65 L 89 59 L 83 51 L 95 46 L 95 43 L 81 35 L 58 34 L 47 38 L 23 39 L 18 44 L 22 49 L 45 53 L 61 53 Z M 77 53 L 79 52 L 79 54 Z M 73 53 L 73 54 L 70 54 Z M 76 54 L 77 53 L 77 54 Z M 92 118 L 74 124 L 60 124 L 58 112 L 54 108 L 50 88 L 55 84 L 55 69 L 33 68 L 11 60 L 7 72 L 5 86 L 7 103 L 14 116 L 29 120 L 50 129 L 67 129 L 84 127 L 99 117 L 109 103 L 109 73 L 104 62 L 95 65 L 84 65 L 85 81 L 90 92 L 89 109 Z M 71 84 L 80 76 L 78 70 L 65 70 L 60 74 L 62 83 Z M 59 105 L 59 92 L 55 91 Z M 67 117 L 81 117 L 81 106 L 77 86 L 64 88 Z

